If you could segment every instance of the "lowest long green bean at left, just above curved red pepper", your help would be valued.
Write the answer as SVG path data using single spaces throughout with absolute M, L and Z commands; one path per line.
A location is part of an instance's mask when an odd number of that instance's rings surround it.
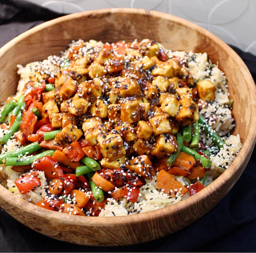
M 55 149 L 49 149 L 45 152 L 42 152 L 37 155 L 32 155 L 29 157 L 7 157 L 5 161 L 5 165 L 9 166 L 25 166 L 25 165 L 30 165 L 34 161 L 36 161 L 39 158 L 42 158 L 44 156 L 50 155 L 52 156 L 53 153 L 55 152 Z

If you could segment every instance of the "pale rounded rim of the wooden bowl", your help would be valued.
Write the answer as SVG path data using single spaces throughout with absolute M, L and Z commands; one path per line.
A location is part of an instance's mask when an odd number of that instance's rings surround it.
M 52 212 L 47 209 L 40 208 L 39 206 L 36 206 L 32 203 L 27 202 L 26 200 L 20 198 L 17 195 L 14 195 L 12 192 L 10 192 L 7 188 L 5 188 L 3 185 L 0 184 L 0 198 L 3 198 L 6 202 L 9 202 L 13 206 L 18 206 L 19 209 L 24 210 L 26 212 L 29 212 L 31 214 L 34 214 L 36 216 L 44 217 L 47 219 L 57 219 L 61 220 L 63 223 L 72 223 L 74 225 L 82 225 L 82 226 L 115 226 L 119 225 L 120 223 L 122 225 L 125 224 L 131 224 L 131 223 L 137 223 L 137 222 L 144 222 L 147 221 L 149 218 L 151 219 L 159 219 L 161 217 L 166 217 L 170 215 L 173 212 L 181 211 L 186 209 L 188 206 L 192 206 L 195 204 L 195 201 L 201 201 L 205 199 L 207 196 L 211 195 L 212 193 L 216 192 L 217 189 L 220 188 L 219 183 L 227 182 L 229 181 L 230 175 L 239 171 L 239 169 L 242 166 L 243 155 L 247 156 L 247 162 L 249 161 L 250 155 L 252 154 L 253 147 L 255 145 L 256 141 L 256 117 L 253 117 L 256 115 L 256 87 L 253 81 L 252 76 L 250 75 L 250 72 L 243 62 L 243 60 L 239 57 L 239 55 L 224 41 L 222 41 L 220 38 L 215 36 L 210 31 L 204 29 L 203 27 L 200 27 L 190 21 L 187 21 L 183 18 L 173 16 L 171 14 L 162 13 L 159 11 L 152 11 L 152 10 L 144 10 L 144 9 L 135 9 L 135 8 L 109 8 L 109 9 L 99 9 L 99 10 L 90 10 L 90 11 L 83 11 L 79 13 L 73 13 L 68 14 L 66 16 L 58 17 L 50 21 L 46 21 L 45 23 L 39 24 L 36 27 L 31 28 L 28 31 L 25 31 L 24 33 L 20 34 L 19 36 L 13 38 L 11 41 L 9 41 L 7 44 L 5 44 L 3 47 L 0 48 L 0 57 L 2 54 L 4 54 L 5 51 L 9 50 L 14 44 L 19 43 L 19 41 L 26 38 L 28 35 L 31 35 L 33 33 L 36 33 L 37 31 L 43 30 L 47 28 L 50 25 L 61 23 L 62 21 L 66 20 L 72 20 L 73 18 L 79 18 L 84 16 L 93 16 L 93 15 L 99 15 L 99 14 L 115 14 L 115 13 L 132 13 L 132 14 L 142 14 L 142 15 L 151 15 L 154 17 L 161 17 L 166 20 L 173 21 L 175 23 L 182 24 L 183 26 L 186 26 L 192 30 L 197 30 L 199 33 L 203 33 L 206 37 L 212 37 L 217 43 L 219 43 L 220 48 L 225 49 L 226 52 L 229 54 L 229 57 L 232 57 L 233 59 L 236 59 L 236 61 L 239 61 L 239 64 L 242 67 L 242 72 L 249 74 L 250 80 L 248 81 L 248 84 L 250 85 L 248 88 L 250 89 L 249 96 L 251 97 L 251 117 L 250 117 L 250 125 L 249 125 L 249 132 L 248 136 L 250 135 L 251 138 L 246 138 L 246 140 L 243 142 L 243 146 L 237 155 L 237 157 L 234 159 L 232 164 L 229 166 L 229 168 L 224 171 L 217 179 L 215 179 L 210 185 L 208 185 L 206 188 L 198 192 L 196 195 L 190 196 L 187 199 L 184 199 L 178 203 L 175 203 L 174 205 L 167 206 L 165 208 L 152 210 L 150 212 L 145 213 L 139 213 L 136 215 L 127 215 L 127 216 L 116 216 L 116 217 L 92 217 L 92 216 L 75 216 L 75 215 L 69 215 L 69 218 L 66 219 L 68 216 L 66 213 L 57 213 Z M 247 164 L 246 162 L 246 164 Z M 242 169 L 242 171 L 245 169 Z M 232 186 L 236 181 L 238 180 L 239 176 L 236 178 L 236 180 L 232 183 Z M 230 187 L 230 189 L 232 188 Z M 230 190 L 229 189 L 229 190 Z M 207 193 L 207 194 L 205 194 Z M 219 201 L 216 202 L 216 204 Z M 9 210 L 6 210 L 7 212 Z M 15 217 L 14 217 L 15 218 Z

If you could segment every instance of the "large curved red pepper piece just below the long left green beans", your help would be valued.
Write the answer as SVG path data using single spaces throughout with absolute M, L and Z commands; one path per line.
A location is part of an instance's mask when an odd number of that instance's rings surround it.
M 32 168 L 38 171 L 44 171 L 46 178 L 60 178 L 63 176 L 63 170 L 58 161 L 47 155 L 37 159 L 32 163 Z

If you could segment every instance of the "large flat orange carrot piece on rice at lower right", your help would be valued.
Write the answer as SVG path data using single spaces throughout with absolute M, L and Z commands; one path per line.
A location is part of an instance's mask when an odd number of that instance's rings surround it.
M 177 194 L 185 194 L 188 191 L 186 186 L 177 181 L 174 176 L 164 169 L 158 173 L 157 188 L 172 197 L 175 197 Z

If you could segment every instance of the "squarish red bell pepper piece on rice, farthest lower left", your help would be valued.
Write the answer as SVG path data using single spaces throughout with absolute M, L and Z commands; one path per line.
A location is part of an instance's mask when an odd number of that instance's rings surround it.
M 37 171 L 24 174 L 20 178 L 16 179 L 14 183 L 22 194 L 29 192 L 30 190 L 35 189 L 41 185 Z

